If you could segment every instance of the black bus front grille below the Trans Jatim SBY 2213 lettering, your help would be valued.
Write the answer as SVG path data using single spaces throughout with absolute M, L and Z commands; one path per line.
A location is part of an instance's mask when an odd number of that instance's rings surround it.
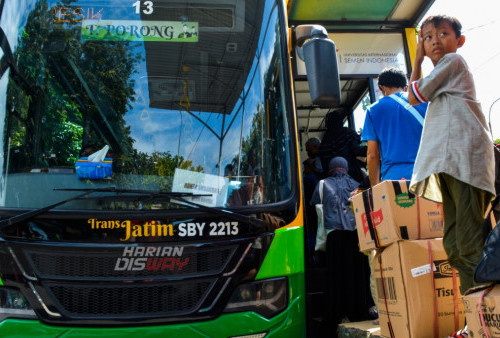
M 271 241 L 272 233 L 209 243 L 11 241 L 0 242 L 0 265 L 29 280 L 22 292 L 38 299 L 46 323 L 154 325 L 218 315 L 218 301 L 257 271 Z M 19 287 L 19 272 L 4 285 Z

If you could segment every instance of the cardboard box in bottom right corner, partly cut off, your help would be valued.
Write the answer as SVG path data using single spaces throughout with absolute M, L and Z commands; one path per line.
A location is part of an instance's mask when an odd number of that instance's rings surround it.
M 483 328 L 479 299 L 485 291 L 487 293 L 481 302 L 485 326 Z M 500 285 L 495 285 L 491 291 L 484 287 L 467 291 L 467 295 L 464 296 L 464 305 L 469 337 L 486 337 L 485 331 L 489 337 L 500 337 Z

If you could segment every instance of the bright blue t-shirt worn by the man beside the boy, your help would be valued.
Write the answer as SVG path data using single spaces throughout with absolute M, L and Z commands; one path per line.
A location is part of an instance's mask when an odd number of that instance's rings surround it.
M 396 93 L 408 102 L 406 93 Z M 425 117 L 427 103 L 414 106 Z M 382 181 L 411 179 L 417 157 L 422 125 L 401 104 L 390 97 L 383 97 L 366 111 L 361 141 L 377 141 Z

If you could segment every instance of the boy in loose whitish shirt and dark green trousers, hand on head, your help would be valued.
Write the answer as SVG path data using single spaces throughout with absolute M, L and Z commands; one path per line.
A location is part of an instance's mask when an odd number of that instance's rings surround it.
M 412 105 L 430 101 L 410 190 L 443 203 L 443 246 L 459 272 L 464 294 L 475 285 L 484 213 L 495 196 L 495 163 L 472 74 L 456 53 L 465 42 L 461 28 L 456 18 L 445 15 L 422 23 L 408 101 Z M 420 78 L 424 56 L 434 69 Z M 467 337 L 467 331 L 454 336 Z

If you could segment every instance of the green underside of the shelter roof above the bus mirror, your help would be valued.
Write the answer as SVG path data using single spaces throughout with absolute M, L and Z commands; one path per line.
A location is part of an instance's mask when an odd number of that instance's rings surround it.
M 288 0 L 290 25 L 331 30 L 385 30 L 416 26 L 434 0 Z

